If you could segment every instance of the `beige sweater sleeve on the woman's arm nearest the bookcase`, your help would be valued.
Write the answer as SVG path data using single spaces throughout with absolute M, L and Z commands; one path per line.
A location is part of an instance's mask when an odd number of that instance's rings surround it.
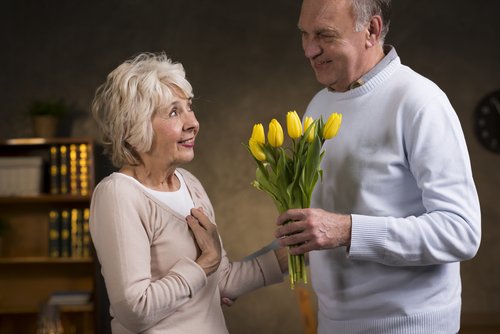
M 172 314 L 206 285 L 201 268 L 184 257 L 161 279 L 151 277 L 151 235 L 141 192 L 117 180 L 103 180 L 91 202 L 90 232 L 113 316 L 142 332 Z

